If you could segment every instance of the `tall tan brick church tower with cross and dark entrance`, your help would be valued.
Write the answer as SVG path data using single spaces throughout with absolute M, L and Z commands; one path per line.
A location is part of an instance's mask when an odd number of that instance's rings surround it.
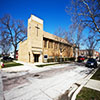
M 28 19 L 28 46 L 30 62 L 42 62 L 43 20 L 34 15 Z

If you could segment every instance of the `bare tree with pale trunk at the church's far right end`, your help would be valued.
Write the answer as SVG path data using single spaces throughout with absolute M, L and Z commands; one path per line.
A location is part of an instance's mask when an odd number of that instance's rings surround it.
M 76 21 L 69 26 L 69 31 L 66 34 L 67 41 L 73 46 L 73 56 L 75 58 L 78 57 L 78 49 L 83 42 L 83 30 L 84 26 Z

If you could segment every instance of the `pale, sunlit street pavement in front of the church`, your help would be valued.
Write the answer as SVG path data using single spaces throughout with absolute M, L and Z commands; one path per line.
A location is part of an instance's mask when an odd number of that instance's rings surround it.
M 57 100 L 92 70 L 79 63 L 21 67 L 2 70 L 6 100 Z

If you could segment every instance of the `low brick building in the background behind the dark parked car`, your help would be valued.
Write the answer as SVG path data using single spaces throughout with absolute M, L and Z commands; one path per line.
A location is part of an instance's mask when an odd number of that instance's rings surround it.
M 79 50 L 79 55 L 80 56 L 85 56 L 85 57 L 93 57 L 93 58 L 96 58 L 96 57 L 99 57 L 99 52 L 95 51 L 95 50 Z

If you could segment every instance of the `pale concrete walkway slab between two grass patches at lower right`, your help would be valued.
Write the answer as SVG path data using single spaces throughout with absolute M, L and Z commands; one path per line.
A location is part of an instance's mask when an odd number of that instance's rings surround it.
M 100 81 L 90 79 L 84 87 L 100 91 Z

